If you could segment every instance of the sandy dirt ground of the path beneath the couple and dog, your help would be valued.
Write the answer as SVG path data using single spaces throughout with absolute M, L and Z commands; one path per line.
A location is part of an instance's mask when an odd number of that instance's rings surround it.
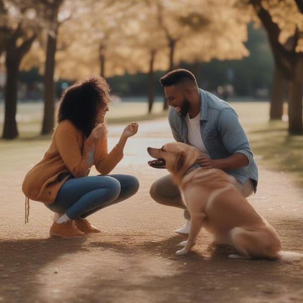
M 250 105 L 249 110 L 243 104 L 235 107 L 259 165 L 259 188 L 249 201 L 277 230 L 283 249 L 303 252 L 303 189 L 298 175 L 285 168 L 293 150 L 298 158 L 302 155 L 295 149 L 301 137 L 291 138 L 296 143 L 287 156 L 285 143 L 280 144 L 285 127 L 278 134 L 266 124 L 264 105 Z M 256 129 L 256 124 L 262 127 Z M 109 146 L 118 141 L 122 130 L 123 125 L 110 124 Z M 275 145 L 276 137 L 280 141 Z M 30 204 L 29 223 L 24 224 L 21 184 L 25 173 L 42 158 L 49 139 L 0 142 L 0 301 L 301 302 L 302 263 L 230 260 L 227 256 L 234 249 L 214 245 L 204 231 L 189 255 L 174 255 L 177 244 L 186 239 L 174 233 L 183 224 L 182 211 L 150 198 L 151 183 L 166 171 L 146 164 L 150 160 L 146 147 L 169 141 L 167 119 L 140 123 L 113 171 L 137 176 L 138 193 L 90 217 L 102 229 L 100 234 L 74 240 L 49 237 L 52 213 L 35 201 Z

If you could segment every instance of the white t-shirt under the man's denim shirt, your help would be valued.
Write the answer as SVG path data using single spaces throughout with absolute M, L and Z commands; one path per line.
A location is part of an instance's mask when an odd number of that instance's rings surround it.
M 201 153 L 208 155 L 200 133 L 200 113 L 192 119 L 190 119 L 187 114 L 185 116 L 185 121 L 187 124 L 187 142 L 189 145 L 198 148 Z

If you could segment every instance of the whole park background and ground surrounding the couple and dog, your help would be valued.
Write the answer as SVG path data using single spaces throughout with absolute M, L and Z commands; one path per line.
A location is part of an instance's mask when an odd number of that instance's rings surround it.
M 0 301 L 48 302 L 69 287 L 62 301 L 301 301 L 301 266 L 231 262 L 205 234 L 173 257 L 182 216 L 149 197 L 165 172 L 147 167 L 146 147 L 173 140 L 159 78 L 175 68 L 236 109 L 260 171 L 249 201 L 285 249 L 303 251 L 300 0 L 0 0 Z M 21 185 L 50 144 L 63 89 L 90 75 L 112 89 L 109 148 L 139 123 L 114 172 L 141 186 L 92 216 L 100 237 L 54 240 L 42 204 L 24 225 Z

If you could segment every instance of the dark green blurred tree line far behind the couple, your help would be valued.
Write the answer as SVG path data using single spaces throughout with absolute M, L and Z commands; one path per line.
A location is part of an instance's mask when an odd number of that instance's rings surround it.
M 256 96 L 257 89 L 271 90 L 272 76 L 274 70 L 273 56 L 266 33 L 262 27 L 254 28 L 253 24 L 248 25 L 248 40 L 244 43 L 249 51 L 249 56 L 241 60 L 217 60 L 208 63 L 201 63 L 198 71 L 194 64 L 180 62 L 178 67 L 191 70 L 198 85 L 206 90 L 216 92 L 219 85 L 231 84 L 234 87 L 236 96 Z M 163 89 L 159 79 L 166 71 L 155 71 L 153 89 L 155 95 L 162 95 Z M 231 75 L 229 74 L 231 73 Z M 107 78 L 111 85 L 112 92 L 119 96 L 146 96 L 146 81 L 148 75 L 136 73 L 134 75 L 125 73 L 121 76 Z M 44 77 L 37 68 L 19 73 L 19 81 L 32 87 L 34 82 L 43 83 Z M 55 93 L 59 98 L 64 82 L 73 83 L 66 79 L 56 81 Z M 40 96 L 42 97 L 42 95 Z M 27 96 L 31 99 L 31 95 Z

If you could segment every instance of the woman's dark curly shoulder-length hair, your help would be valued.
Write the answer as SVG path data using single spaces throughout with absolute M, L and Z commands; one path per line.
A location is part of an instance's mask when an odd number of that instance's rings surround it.
M 97 124 L 98 110 L 110 103 L 110 87 L 103 77 L 93 76 L 65 89 L 60 98 L 58 123 L 70 120 L 88 137 Z

